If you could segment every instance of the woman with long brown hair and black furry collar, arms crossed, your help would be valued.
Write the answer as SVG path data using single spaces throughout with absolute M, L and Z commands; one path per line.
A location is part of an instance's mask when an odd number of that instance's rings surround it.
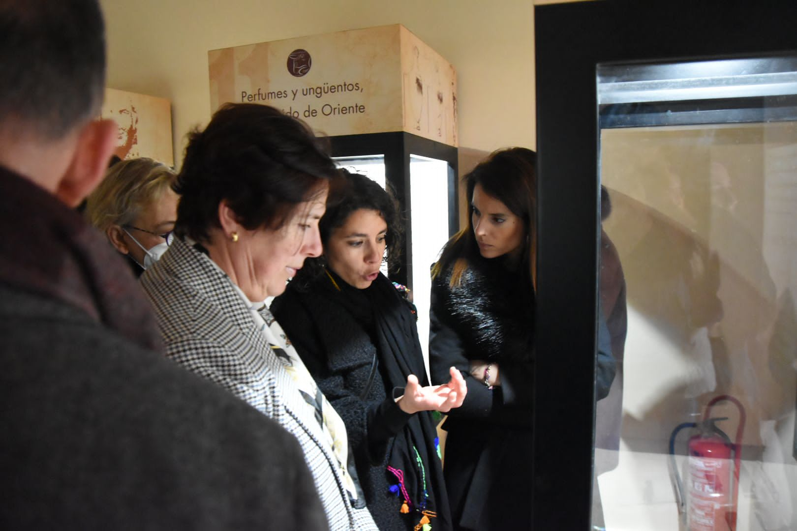
M 465 176 L 468 225 L 432 270 L 430 370 L 468 392 L 443 428 L 455 529 L 530 529 L 536 154 L 499 150 Z

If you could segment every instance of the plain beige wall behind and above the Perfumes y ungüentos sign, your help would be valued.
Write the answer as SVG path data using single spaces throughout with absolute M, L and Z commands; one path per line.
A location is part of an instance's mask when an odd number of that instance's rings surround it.
M 536 144 L 532 0 L 101 0 L 108 86 L 173 102 L 175 161 L 210 119 L 207 52 L 401 23 L 457 69 L 460 146 Z M 179 162 L 178 162 L 179 164 Z

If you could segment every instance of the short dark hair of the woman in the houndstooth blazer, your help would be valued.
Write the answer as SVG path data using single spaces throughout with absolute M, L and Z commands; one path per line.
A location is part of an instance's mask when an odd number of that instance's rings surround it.
M 336 174 L 322 139 L 298 119 L 257 103 L 226 103 L 189 134 L 175 233 L 204 242 L 226 200 L 245 228 L 280 228 Z

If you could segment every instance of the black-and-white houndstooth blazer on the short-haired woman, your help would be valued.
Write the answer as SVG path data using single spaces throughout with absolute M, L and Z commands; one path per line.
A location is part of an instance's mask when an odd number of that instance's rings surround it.
M 299 439 L 332 531 L 377 529 L 351 506 L 335 456 L 304 398 L 232 281 L 208 256 L 175 239 L 141 277 L 167 356 L 277 420 Z

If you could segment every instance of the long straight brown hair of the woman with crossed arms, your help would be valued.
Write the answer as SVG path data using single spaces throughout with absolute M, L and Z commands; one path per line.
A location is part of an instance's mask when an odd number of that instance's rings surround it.
M 523 220 L 527 237 L 524 239 L 524 271 L 528 271 L 529 285 L 536 285 L 536 160 L 534 151 L 525 147 L 508 147 L 493 151 L 463 178 L 468 193 L 468 225 L 462 228 L 443 248 L 432 276 L 452 268 L 451 286 L 460 283 L 462 273 L 477 260 L 483 260 L 479 253 L 476 237 L 473 235 L 473 189 L 481 185 L 485 193 L 504 203 L 517 217 Z

